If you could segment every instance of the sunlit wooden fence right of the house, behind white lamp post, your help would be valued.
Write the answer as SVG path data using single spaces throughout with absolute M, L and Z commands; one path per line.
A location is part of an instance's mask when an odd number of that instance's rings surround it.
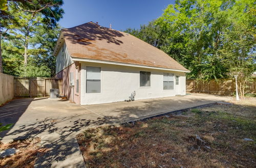
M 220 79 L 206 81 L 197 81 L 194 79 L 186 80 L 186 92 L 199 92 L 211 94 L 233 94 L 236 91 L 235 79 Z M 256 93 L 256 79 L 247 83 L 245 93 Z

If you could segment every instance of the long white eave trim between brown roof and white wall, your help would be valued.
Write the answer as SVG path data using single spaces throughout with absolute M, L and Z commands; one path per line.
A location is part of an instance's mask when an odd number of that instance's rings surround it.
M 146 65 L 137 65 L 137 64 L 128 64 L 128 63 L 120 63 L 120 62 L 112 62 L 112 61 L 101 61 L 101 60 L 92 60 L 92 59 L 83 59 L 83 58 L 74 58 L 74 57 L 71 57 L 71 58 L 72 58 L 73 61 L 79 61 L 79 62 L 90 62 L 90 63 L 111 64 L 111 65 L 122 65 L 122 66 L 129 66 L 129 67 L 140 67 L 140 68 L 149 68 L 149 69 L 158 69 L 158 70 L 185 72 L 185 73 L 189 73 L 190 72 L 189 70 L 152 67 L 152 66 L 146 66 Z

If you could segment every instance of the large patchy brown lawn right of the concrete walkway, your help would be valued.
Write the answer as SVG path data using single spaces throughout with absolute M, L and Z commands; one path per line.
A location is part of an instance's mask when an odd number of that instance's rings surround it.
M 256 99 L 232 103 L 89 129 L 78 144 L 87 167 L 254 167 Z

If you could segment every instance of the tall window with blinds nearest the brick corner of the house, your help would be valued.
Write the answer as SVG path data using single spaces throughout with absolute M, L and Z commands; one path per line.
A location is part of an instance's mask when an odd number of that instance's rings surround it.
M 86 67 L 86 93 L 100 93 L 99 67 Z

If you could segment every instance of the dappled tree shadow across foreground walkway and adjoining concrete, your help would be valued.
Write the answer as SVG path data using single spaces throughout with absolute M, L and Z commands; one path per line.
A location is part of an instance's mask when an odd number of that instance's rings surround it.
M 82 115 L 71 115 L 62 118 L 45 118 L 38 122 L 21 125 L 19 129 L 14 130 L 10 134 L 17 135 L 15 139 L 25 139 L 28 137 L 48 136 L 47 142 L 42 142 L 44 147 L 50 149 L 44 155 L 40 156 L 36 161 L 36 167 L 51 167 L 53 163 L 65 161 L 68 155 L 80 152 L 76 143 L 75 135 L 82 129 L 89 126 L 100 126 L 102 124 L 111 124 L 109 120 L 104 118 L 83 119 Z M 14 139 L 14 140 L 15 140 Z M 54 162 L 53 162 L 54 160 Z M 80 162 L 69 162 L 65 166 L 79 167 Z

